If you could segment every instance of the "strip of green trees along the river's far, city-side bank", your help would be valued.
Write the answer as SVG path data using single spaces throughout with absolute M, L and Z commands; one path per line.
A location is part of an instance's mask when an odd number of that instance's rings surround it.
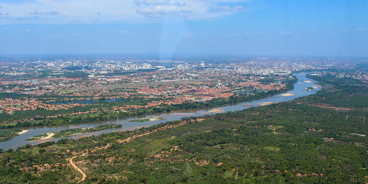
M 76 124 L 76 123 L 90 123 L 90 122 L 98 122 L 98 121 L 106 121 L 118 118 L 125 117 L 135 117 L 141 115 L 149 115 L 149 114 L 158 114 L 158 113 L 166 113 L 177 110 L 184 109 L 201 109 L 201 108 L 210 108 L 222 105 L 231 105 L 237 104 L 240 102 L 252 101 L 257 99 L 262 99 L 265 97 L 273 96 L 279 93 L 284 93 L 293 89 L 293 84 L 296 82 L 296 78 L 288 79 L 284 81 L 286 84 L 285 89 L 281 90 L 269 90 L 267 92 L 257 92 L 254 95 L 249 95 L 247 93 L 241 93 L 230 98 L 217 98 L 212 99 L 207 102 L 190 102 L 183 104 L 175 104 L 175 105 L 159 105 L 152 106 L 147 108 L 131 108 L 129 111 L 104 111 L 94 114 L 83 114 L 83 115 L 72 115 L 72 116 L 58 116 L 46 119 L 45 117 L 34 118 L 36 121 L 25 121 L 18 122 L 16 124 L 1 124 L 0 128 L 18 128 L 18 127 L 34 127 L 34 126 L 46 126 L 46 125 L 62 125 L 62 124 Z M 139 99 L 135 99 L 135 101 L 120 101 L 113 103 L 99 102 L 94 105 L 88 106 L 78 106 L 70 109 L 60 109 L 60 110 L 29 110 L 29 111 L 17 111 L 14 113 L 12 117 L 22 117 L 22 118 L 31 118 L 35 115 L 46 116 L 46 115 L 54 115 L 54 114 L 62 114 L 62 113 L 71 113 L 73 111 L 82 111 L 89 110 L 91 108 L 101 108 L 101 106 L 111 108 L 114 105 L 142 105 L 142 103 L 147 103 L 148 101 L 143 101 Z

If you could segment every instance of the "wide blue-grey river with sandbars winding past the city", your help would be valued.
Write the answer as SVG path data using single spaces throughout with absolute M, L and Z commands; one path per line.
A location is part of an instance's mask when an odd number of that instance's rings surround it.
M 283 94 L 263 98 L 263 99 L 260 99 L 260 100 L 254 100 L 254 101 L 251 101 L 251 102 L 243 102 L 243 103 L 239 103 L 239 104 L 235 104 L 235 105 L 225 105 L 225 106 L 209 108 L 209 109 L 184 110 L 184 111 L 180 111 L 180 112 L 155 114 L 154 116 L 160 116 L 160 117 L 164 118 L 164 120 L 159 120 L 159 121 L 129 122 L 129 120 L 153 116 L 153 115 L 147 115 L 147 116 L 140 116 L 140 117 L 134 117 L 134 118 L 124 118 L 124 119 L 117 119 L 117 120 L 113 120 L 113 121 L 104 121 L 104 122 L 23 128 L 22 130 L 28 130 L 28 131 L 26 131 L 25 133 L 22 133 L 19 136 L 16 136 L 13 139 L 10 139 L 8 141 L 0 142 L 0 149 L 3 149 L 3 150 L 7 150 L 9 148 L 17 149 L 18 147 L 25 146 L 26 144 L 32 144 L 33 145 L 33 144 L 47 142 L 47 141 L 57 141 L 59 139 L 65 138 L 65 137 L 62 137 L 62 138 L 26 141 L 26 139 L 29 138 L 29 137 L 33 137 L 33 136 L 36 136 L 36 135 L 40 135 L 40 134 L 48 133 L 48 132 L 53 132 L 53 131 L 62 131 L 62 130 L 66 130 L 66 129 L 96 127 L 96 126 L 99 126 L 99 125 L 106 125 L 106 124 L 123 125 L 122 128 L 83 133 L 83 134 L 78 134 L 78 135 L 69 137 L 69 138 L 78 138 L 78 137 L 82 137 L 82 136 L 99 135 L 101 133 L 112 132 L 112 131 L 126 131 L 126 130 L 139 129 L 141 127 L 150 127 L 152 125 L 156 125 L 156 124 L 167 122 L 167 121 L 180 120 L 183 117 L 203 116 L 203 115 L 207 115 L 207 114 L 215 114 L 215 113 L 222 113 L 222 112 L 228 112 L 228 111 L 242 110 L 242 109 L 246 109 L 246 108 L 254 107 L 254 106 L 259 106 L 259 105 L 267 105 L 267 104 L 271 104 L 271 103 L 279 103 L 279 102 L 284 102 L 284 101 L 290 101 L 290 100 L 298 98 L 298 97 L 315 94 L 317 90 L 320 90 L 321 86 L 315 84 L 317 81 L 307 78 L 306 74 L 307 73 L 295 74 L 294 76 L 297 77 L 298 81 L 297 81 L 297 83 L 294 84 L 294 89 L 291 90 L 291 91 L 288 91 L 286 93 L 283 93 Z M 304 91 L 303 90 L 306 87 L 312 87 L 312 86 L 314 86 L 314 89 L 311 90 L 311 91 Z M 289 96 L 285 96 L 285 94 L 287 94 Z

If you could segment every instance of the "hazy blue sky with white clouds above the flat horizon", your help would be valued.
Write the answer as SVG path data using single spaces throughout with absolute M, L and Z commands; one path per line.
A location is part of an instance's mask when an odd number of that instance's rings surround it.
M 0 0 L 0 54 L 368 57 L 367 0 Z

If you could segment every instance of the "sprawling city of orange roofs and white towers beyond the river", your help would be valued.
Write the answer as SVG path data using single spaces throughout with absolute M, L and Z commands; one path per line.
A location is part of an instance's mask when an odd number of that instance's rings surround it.
M 214 98 L 228 98 L 237 95 L 237 92 L 285 88 L 282 81 L 295 71 L 356 67 L 354 63 L 346 64 L 335 60 L 288 58 L 210 62 L 101 59 L 0 62 L 0 112 L 66 109 L 88 105 L 78 101 L 138 97 L 148 103 L 126 105 L 123 109 L 203 102 Z M 367 71 L 331 74 L 368 80 Z M 193 79 L 197 81 L 179 82 Z M 204 82 L 202 79 L 213 80 Z M 263 79 L 270 79 L 272 82 L 264 82 Z M 167 81 L 172 82 L 164 83 Z M 113 108 L 122 109 L 118 106 Z

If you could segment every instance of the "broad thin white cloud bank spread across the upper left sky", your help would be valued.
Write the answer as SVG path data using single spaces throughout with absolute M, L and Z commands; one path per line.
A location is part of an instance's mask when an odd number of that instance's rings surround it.
M 241 5 L 246 1 L 248 0 L 0 1 L 3 7 L 1 12 L 10 14 L 2 17 L 0 24 L 100 24 L 158 22 L 163 18 L 173 21 L 214 19 L 244 11 Z

